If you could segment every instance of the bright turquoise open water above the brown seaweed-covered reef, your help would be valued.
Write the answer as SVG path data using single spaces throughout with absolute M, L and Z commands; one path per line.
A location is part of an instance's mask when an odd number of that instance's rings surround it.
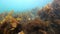
M 35 7 L 43 7 L 52 0 L 0 0 L 0 12 L 4 11 L 22 11 Z

